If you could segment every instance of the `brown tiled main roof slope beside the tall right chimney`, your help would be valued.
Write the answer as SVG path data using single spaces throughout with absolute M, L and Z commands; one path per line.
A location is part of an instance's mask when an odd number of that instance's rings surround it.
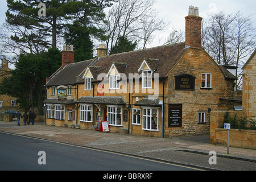
M 151 69 L 156 69 L 159 77 L 167 77 L 168 72 L 184 55 L 185 43 L 177 43 L 168 46 L 159 46 L 138 51 L 123 52 L 115 55 L 104 56 L 98 59 L 93 66 L 101 67 L 101 73 L 108 73 L 114 63 L 119 73 L 138 73 L 143 60 L 146 60 Z

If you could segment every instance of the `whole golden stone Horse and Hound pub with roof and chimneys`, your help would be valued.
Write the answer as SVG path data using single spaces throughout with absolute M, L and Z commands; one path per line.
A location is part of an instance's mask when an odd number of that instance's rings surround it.
M 210 112 L 229 109 L 220 98 L 233 99 L 236 78 L 201 47 L 201 20 L 189 7 L 184 43 L 115 55 L 101 45 L 95 59 L 63 59 L 47 78 L 47 124 L 108 121 L 112 133 L 151 137 L 209 132 Z

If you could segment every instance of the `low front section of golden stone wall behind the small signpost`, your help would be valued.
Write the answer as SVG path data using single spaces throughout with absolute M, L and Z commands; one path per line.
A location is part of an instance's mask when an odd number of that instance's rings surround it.
M 216 129 L 216 144 L 227 144 L 227 131 L 226 129 Z M 256 149 L 256 131 L 255 130 L 229 130 L 229 146 L 240 148 Z

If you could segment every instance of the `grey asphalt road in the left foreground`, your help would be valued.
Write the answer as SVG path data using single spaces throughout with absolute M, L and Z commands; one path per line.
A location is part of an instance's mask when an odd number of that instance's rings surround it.
M 0 170 L 187 171 L 195 168 L 0 133 Z M 44 151 L 45 155 L 39 154 Z M 46 164 L 38 163 L 45 162 Z M 105 172 L 107 175 L 107 172 Z M 108 173 L 109 175 L 109 173 Z M 111 177 L 111 176 L 105 176 Z

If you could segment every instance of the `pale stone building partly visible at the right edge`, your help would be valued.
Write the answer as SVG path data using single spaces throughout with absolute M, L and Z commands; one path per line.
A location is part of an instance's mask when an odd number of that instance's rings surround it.
M 243 65 L 243 111 L 246 116 L 256 116 L 256 50 Z

